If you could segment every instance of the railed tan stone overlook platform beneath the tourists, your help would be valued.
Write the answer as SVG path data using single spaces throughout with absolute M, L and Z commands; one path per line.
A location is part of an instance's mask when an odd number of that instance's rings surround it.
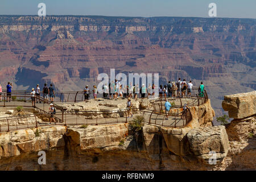
M 195 90 L 194 90 L 195 91 Z M 50 125 L 108 125 L 113 123 L 126 123 L 133 121 L 137 115 L 144 118 L 144 122 L 150 125 L 165 126 L 165 127 L 184 127 L 191 119 L 190 107 L 199 106 L 208 100 L 207 92 L 204 97 L 199 97 L 197 94 L 192 94 L 191 97 L 167 97 L 172 107 L 166 119 L 164 111 L 165 101 L 156 98 L 138 98 L 131 99 L 133 107 L 129 114 L 126 108 L 127 99 L 119 97 L 117 100 L 109 100 L 97 98 L 89 101 L 71 100 L 72 94 L 77 92 L 56 93 L 60 97 L 56 97 L 53 102 L 53 107 L 56 108 L 54 118 L 56 123 L 49 123 L 50 113 L 49 104 L 51 102 L 44 100 L 43 97 L 38 98 L 38 103 L 32 106 L 30 92 L 24 90 L 16 90 L 12 92 L 11 102 L 6 101 L 6 93 L 2 94 L 2 102 L 0 102 L 0 132 L 17 129 L 26 129 L 40 126 Z M 68 96 L 64 97 L 64 94 Z M 82 97 L 83 98 L 83 97 Z M 74 98 L 73 98 L 74 99 Z M 41 103 L 39 103 L 39 101 Z M 187 109 L 184 105 L 187 104 Z M 22 106 L 25 114 L 19 114 L 16 107 Z M 13 110 L 14 113 L 5 114 L 7 110 Z

